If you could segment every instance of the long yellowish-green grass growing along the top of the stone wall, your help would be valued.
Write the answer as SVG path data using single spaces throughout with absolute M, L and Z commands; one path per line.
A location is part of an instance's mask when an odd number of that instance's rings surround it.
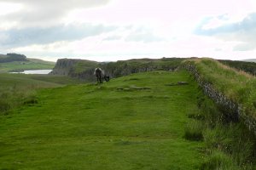
M 200 72 L 205 82 L 212 84 L 220 93 L 236 104 L 241 104 L 247 115 L 256 118 L 256 79 L 243 72 L 236 71 L 214 59 L 189 59 Z

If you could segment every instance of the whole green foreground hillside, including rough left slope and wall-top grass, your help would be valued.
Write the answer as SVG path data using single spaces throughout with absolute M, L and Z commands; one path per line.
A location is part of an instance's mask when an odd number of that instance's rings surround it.
M 229 109 L 237 89 L 253 99 L 252 76 L 213 59 L 181 66 L 103 84 L 0 74 L 0 169 L 255 169 L 253 112 Z

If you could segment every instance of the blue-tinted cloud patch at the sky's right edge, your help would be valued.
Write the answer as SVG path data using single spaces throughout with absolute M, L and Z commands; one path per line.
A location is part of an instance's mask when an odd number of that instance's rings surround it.
M 218 18 L 226 20 L 226 18 Z M 248 14 L 243 20 L 221 26 L 209 27 L 213 18 L 207 18 L 195 29 L 195 34 L 200 36 L 218 37 L 224 41 L 235 41 L 239 44 L 234 47 L 235 51 L 247 51 L 256 48 L 256 13 Z

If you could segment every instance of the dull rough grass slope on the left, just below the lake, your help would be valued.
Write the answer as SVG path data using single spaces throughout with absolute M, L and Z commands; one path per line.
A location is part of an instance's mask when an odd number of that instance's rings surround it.
M 36 90 L 81 83 L 70 77 L 49 75 L 0 74 L 0 116 L 10 109 L 36 103 Z

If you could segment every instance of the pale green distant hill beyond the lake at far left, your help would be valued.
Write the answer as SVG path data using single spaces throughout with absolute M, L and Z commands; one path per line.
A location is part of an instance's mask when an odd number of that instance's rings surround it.
M 55 62 L 26 58 L 24 54 L 0 54 L 0 73 L 53 69 Z

